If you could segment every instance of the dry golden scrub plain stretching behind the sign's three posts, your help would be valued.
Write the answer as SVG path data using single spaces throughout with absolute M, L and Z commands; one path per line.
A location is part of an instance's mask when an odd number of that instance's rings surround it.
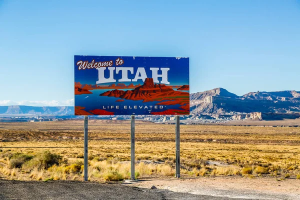
M 135 176 L 175 174 L 175 125 L 135 121 Z M 88 179 L 130 176 L 130 121 L 89 120 Z M 180 125 L 181 176 L 300 178 L 300 128 Z M 83 120 L 0 123 L 0 176 L 82 180 Z

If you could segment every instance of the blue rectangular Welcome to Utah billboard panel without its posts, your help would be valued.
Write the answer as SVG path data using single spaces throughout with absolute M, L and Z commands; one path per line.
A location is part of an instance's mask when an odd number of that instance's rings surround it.
M 75 115 L 189 114 L 189 58 L 75 55 Z

